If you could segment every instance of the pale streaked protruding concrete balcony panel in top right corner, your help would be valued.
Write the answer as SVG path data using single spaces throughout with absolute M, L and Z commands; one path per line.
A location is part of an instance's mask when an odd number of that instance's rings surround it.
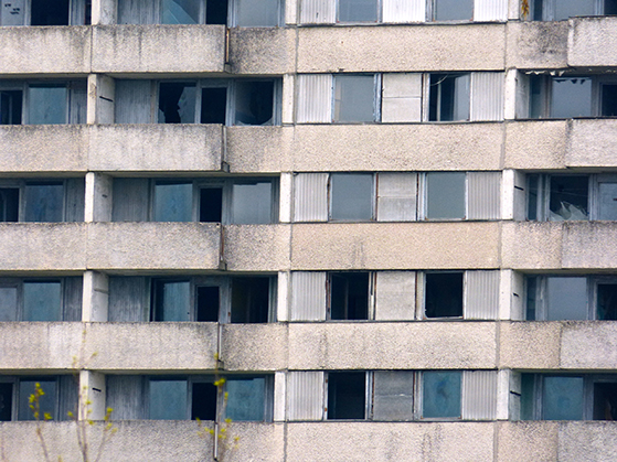
M 617 18 L 573 18 L 568 23 L 568 66 L 617 66 Z

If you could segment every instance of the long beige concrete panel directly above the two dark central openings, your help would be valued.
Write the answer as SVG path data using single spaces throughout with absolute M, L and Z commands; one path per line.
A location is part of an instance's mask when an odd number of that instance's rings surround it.
M 499 226 L 490 222 L 295 224 L 291 269 L 494 269 Z

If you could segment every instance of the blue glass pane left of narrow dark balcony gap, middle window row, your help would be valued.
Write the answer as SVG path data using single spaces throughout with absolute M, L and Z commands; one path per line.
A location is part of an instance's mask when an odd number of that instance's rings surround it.
M 191 222 L 192 218 L 192 183 L 155 186 L 155 222 Z

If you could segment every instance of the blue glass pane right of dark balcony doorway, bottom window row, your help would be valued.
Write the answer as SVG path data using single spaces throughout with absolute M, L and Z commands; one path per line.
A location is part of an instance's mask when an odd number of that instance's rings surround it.
M 226 417 L 232 420 L 264 420 L 266 379 L 228 378 Z

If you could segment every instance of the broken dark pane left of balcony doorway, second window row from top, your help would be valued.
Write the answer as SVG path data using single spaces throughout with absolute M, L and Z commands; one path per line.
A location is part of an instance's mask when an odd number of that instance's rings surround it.
M 195 98 L 195 84 L 161 83 L 159 86 L 159 123 L 194 123 Z

